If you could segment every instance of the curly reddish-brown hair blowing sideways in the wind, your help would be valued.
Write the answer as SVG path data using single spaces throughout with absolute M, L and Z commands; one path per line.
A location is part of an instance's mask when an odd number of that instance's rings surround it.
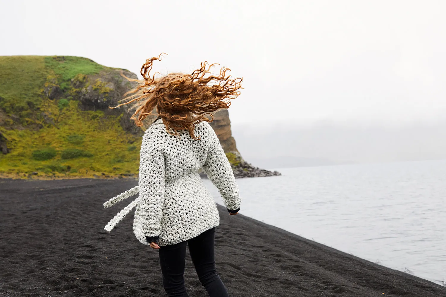
M 161 53 L 162 54 L 162 53 Z M 143 120 L 147 116 L 158 115 L 162 118 L 169 134 L 178 135 L 180 130 L 189 130 L 190 136 L 200 139 L 194 135 L 195 125 L 199 122 L 212 122 L 213 112 L 219 109 L 229 108 L 230 99 L 240 95 L 239 89 L 242 78 L 231 79 L 227 72 L 231 69 L 222 67 L 219 75 L 211 75 L 209 71 L 213 65 L 207 61 L 200 64 L 200 68 L 190 74 L 169 73 L 155 78 L 154 73 L 150 76 L 153 61 L 161 61 L 158 57 L 147 59 L 141 67 L 143 80 L 125 77 L 128 81 L 136 81 L 139 84 L 124 94 L 124 104 L 133 104 L 136 108 L 131 119 L 136 126 L 143 126 Z

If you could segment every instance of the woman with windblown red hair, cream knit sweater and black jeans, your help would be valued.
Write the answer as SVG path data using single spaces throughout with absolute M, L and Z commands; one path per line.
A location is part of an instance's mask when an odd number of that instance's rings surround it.
M 154 60 L 141 68 L 143 81 L 127 92 L 123 104 L 136 102 L 132 119 L 137 126 L 156 110 L 158 118 L 145 131 L 140 150 L 138 186 L 104 203 L 109 207 L 139 191 L 139 197 L 111 220 L 111 229 L 136 207 L 133 232 L 141 243 L 159 251 L 162 282 L 167 295 L 188 296 L 184 286 L 186 244 L 198 278 L 211 297 L 228 296 L 215 270 L 214 235 L 219 212 L 198 174 L 202 168 L 219 189 L 229 214 L 240 210 L 239 189 L 231 164 L 208 122 L 212 112 L 229 108 L 241 78 L 230 69 L 211 75 L 212 65 L 201 63 L 191 74 L 169 73 L 150 77 Z M 120 104 L 119 106 L 123 105 Z M 119 107 L 116 106 L 116 107 Z M 114 107 L 114 108 L 116 108 Z

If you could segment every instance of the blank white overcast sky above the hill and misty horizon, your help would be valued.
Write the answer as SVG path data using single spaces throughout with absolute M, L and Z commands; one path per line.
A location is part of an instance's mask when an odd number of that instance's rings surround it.
M 446 1 L 1 1 L 0 55 L 139 73 L 220 63 L 233 123 L 434 122 L 446 113 Z

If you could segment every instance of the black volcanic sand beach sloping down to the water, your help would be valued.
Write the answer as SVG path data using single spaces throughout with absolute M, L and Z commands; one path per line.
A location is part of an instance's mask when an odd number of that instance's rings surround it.
M 136 240 L 132 214 L 103 231 L 129 201 L 103 202 L 136 185 L 0 179 L 0 296 L 165 296 L 158 252 Z M 216 265 L 232 297 L 446 296 L 440 285 L 219 210 Z M 207 296 L 189 254 L 185 279 L 190 296 Z

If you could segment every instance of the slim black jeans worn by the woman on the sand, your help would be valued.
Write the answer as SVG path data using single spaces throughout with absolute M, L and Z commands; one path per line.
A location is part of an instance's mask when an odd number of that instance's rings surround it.
M 215 227 L 190 240 L 161 246 L 159 251 L 163 286 L 169 297 L 188 297 L 184 286 L 184 264 L 186 244 L 194 263 L 198 279 L 210 297 L 229 297 L 227 290 L 215 270 L 214 259 Z

